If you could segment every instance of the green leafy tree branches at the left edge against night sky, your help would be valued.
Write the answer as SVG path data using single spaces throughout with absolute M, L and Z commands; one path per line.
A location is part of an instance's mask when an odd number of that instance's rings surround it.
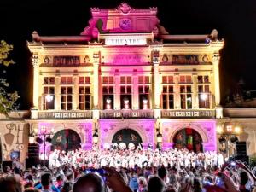
M 5 41 L 0 43 L 0 66 L 8 67 L 10 64 L 15 62 L 9 60 L 9 53 L 13 50 L 13 46 L 7 44 Z M 17 108 L 16 101 L 19 98 L 17 91 L 9 93 L 7 88 L 9 83 L 6 79 L 0 78 L 0 113 L 3 113 L 8 116 L 8 113 Z

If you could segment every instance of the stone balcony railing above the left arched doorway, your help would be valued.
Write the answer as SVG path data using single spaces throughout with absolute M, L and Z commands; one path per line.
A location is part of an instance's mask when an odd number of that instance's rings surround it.
M 92 119 L 92 111 L 39 111 L 38 119 Z

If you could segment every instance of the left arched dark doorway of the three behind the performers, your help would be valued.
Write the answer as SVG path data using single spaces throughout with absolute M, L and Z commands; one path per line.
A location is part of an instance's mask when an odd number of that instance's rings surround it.
M 81 139 L 76 131 L 67 129 L 55 133 L 52 138 L 52 150 L 59 149 L 64 151 L 71 151 L 81 147 Z

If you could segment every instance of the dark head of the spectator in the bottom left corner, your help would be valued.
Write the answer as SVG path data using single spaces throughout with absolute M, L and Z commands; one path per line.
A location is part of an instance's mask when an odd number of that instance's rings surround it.
M 22 192 L 21 177 L 15 175 L 3 175 L 0 177 L 0 189 L 4 192 Z

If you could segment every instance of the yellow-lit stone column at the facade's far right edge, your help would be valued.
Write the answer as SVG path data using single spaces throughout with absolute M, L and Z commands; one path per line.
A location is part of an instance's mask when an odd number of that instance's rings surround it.
M 215 89 L 215 108 L 216 118 L 223 118 L 223 109 L 220 106 L 220 88 L 219 88 L 219 54 L 213 54 L 213 73 L 214 73 L 214 89 Z

